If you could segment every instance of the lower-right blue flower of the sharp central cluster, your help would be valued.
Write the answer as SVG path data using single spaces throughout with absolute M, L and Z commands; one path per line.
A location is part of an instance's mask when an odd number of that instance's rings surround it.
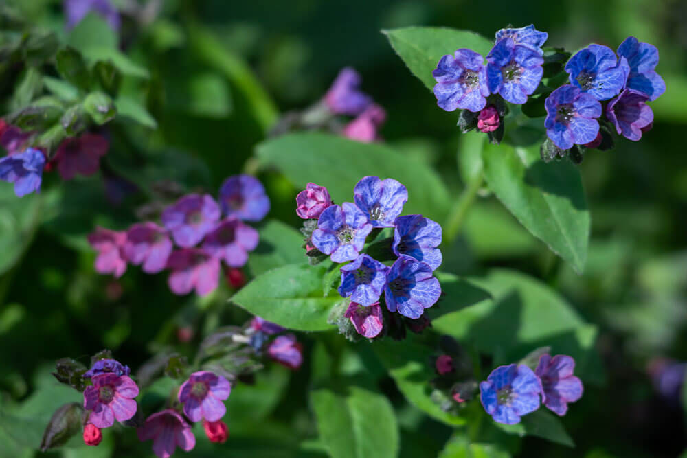
M 420 318 L 440 295 L 439 280 L 426 262 L 400 255 L 387 273 L 384 298 L 390 312 L 398 310 L 404 317 Z

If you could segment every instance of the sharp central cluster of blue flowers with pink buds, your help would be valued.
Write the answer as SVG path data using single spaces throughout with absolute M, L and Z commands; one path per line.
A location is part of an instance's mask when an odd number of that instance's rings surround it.
M 335 205 L 326 188 L 315 183 L 308 183 L 296 197 L 297 214 L 308 219 L 304 224 L 308 255 L 328 255 L 339 264 L 350 262 L 339 268 L 339 294 L 350 298 L 344 317 L 368 338 L 384 328 L 381 301 L 388 312 L 418 320 L 441 295 L 433 276 L 442 261 L 437 248 L 441 227 L 422 215 L 401 216 L 407 200 L 405 186 L 377 176 L 365 176 L 355 185 L 354 203 Z M 383 260 L 394 261 L 390 266 L 363 253 L 368 236 L 374 231 L 374 243 L 385 228 L 393 229 L 393 236 L 376 244 L 387 249 L 383 254 L 389 257 Z

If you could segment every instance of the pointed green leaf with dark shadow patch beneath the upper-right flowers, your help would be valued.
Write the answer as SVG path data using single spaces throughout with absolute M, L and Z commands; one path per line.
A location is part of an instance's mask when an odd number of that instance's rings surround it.
M 484 176 L 508 210 L 581 273 L 587 260 L 589 210 L 578 169 L 568 161 L 543 163 L 539 146 L 484 146 Z

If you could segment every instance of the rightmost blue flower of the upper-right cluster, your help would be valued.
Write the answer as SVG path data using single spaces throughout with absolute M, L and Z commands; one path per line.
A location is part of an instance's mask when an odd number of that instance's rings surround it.
M 656 73 L 658 49 L 649 43 L 640 43 L 637 38 L 628 36 L 618 46 L 618 56 L 627 59 L 630 74 L 625 87 L 649 95 L 649 100 L 656 100 L 666 91 L 666 83 Z

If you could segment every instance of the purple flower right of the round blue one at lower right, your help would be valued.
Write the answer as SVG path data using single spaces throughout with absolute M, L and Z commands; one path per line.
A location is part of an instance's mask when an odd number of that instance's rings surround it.
M 574 369 L 575 360 L 571 356 L 539 356 L 535 374 L 541 380 L 541 402 L 556 415 L 565 415 L 568 402 L 582 397 L 582 382 L 572 375 Z

